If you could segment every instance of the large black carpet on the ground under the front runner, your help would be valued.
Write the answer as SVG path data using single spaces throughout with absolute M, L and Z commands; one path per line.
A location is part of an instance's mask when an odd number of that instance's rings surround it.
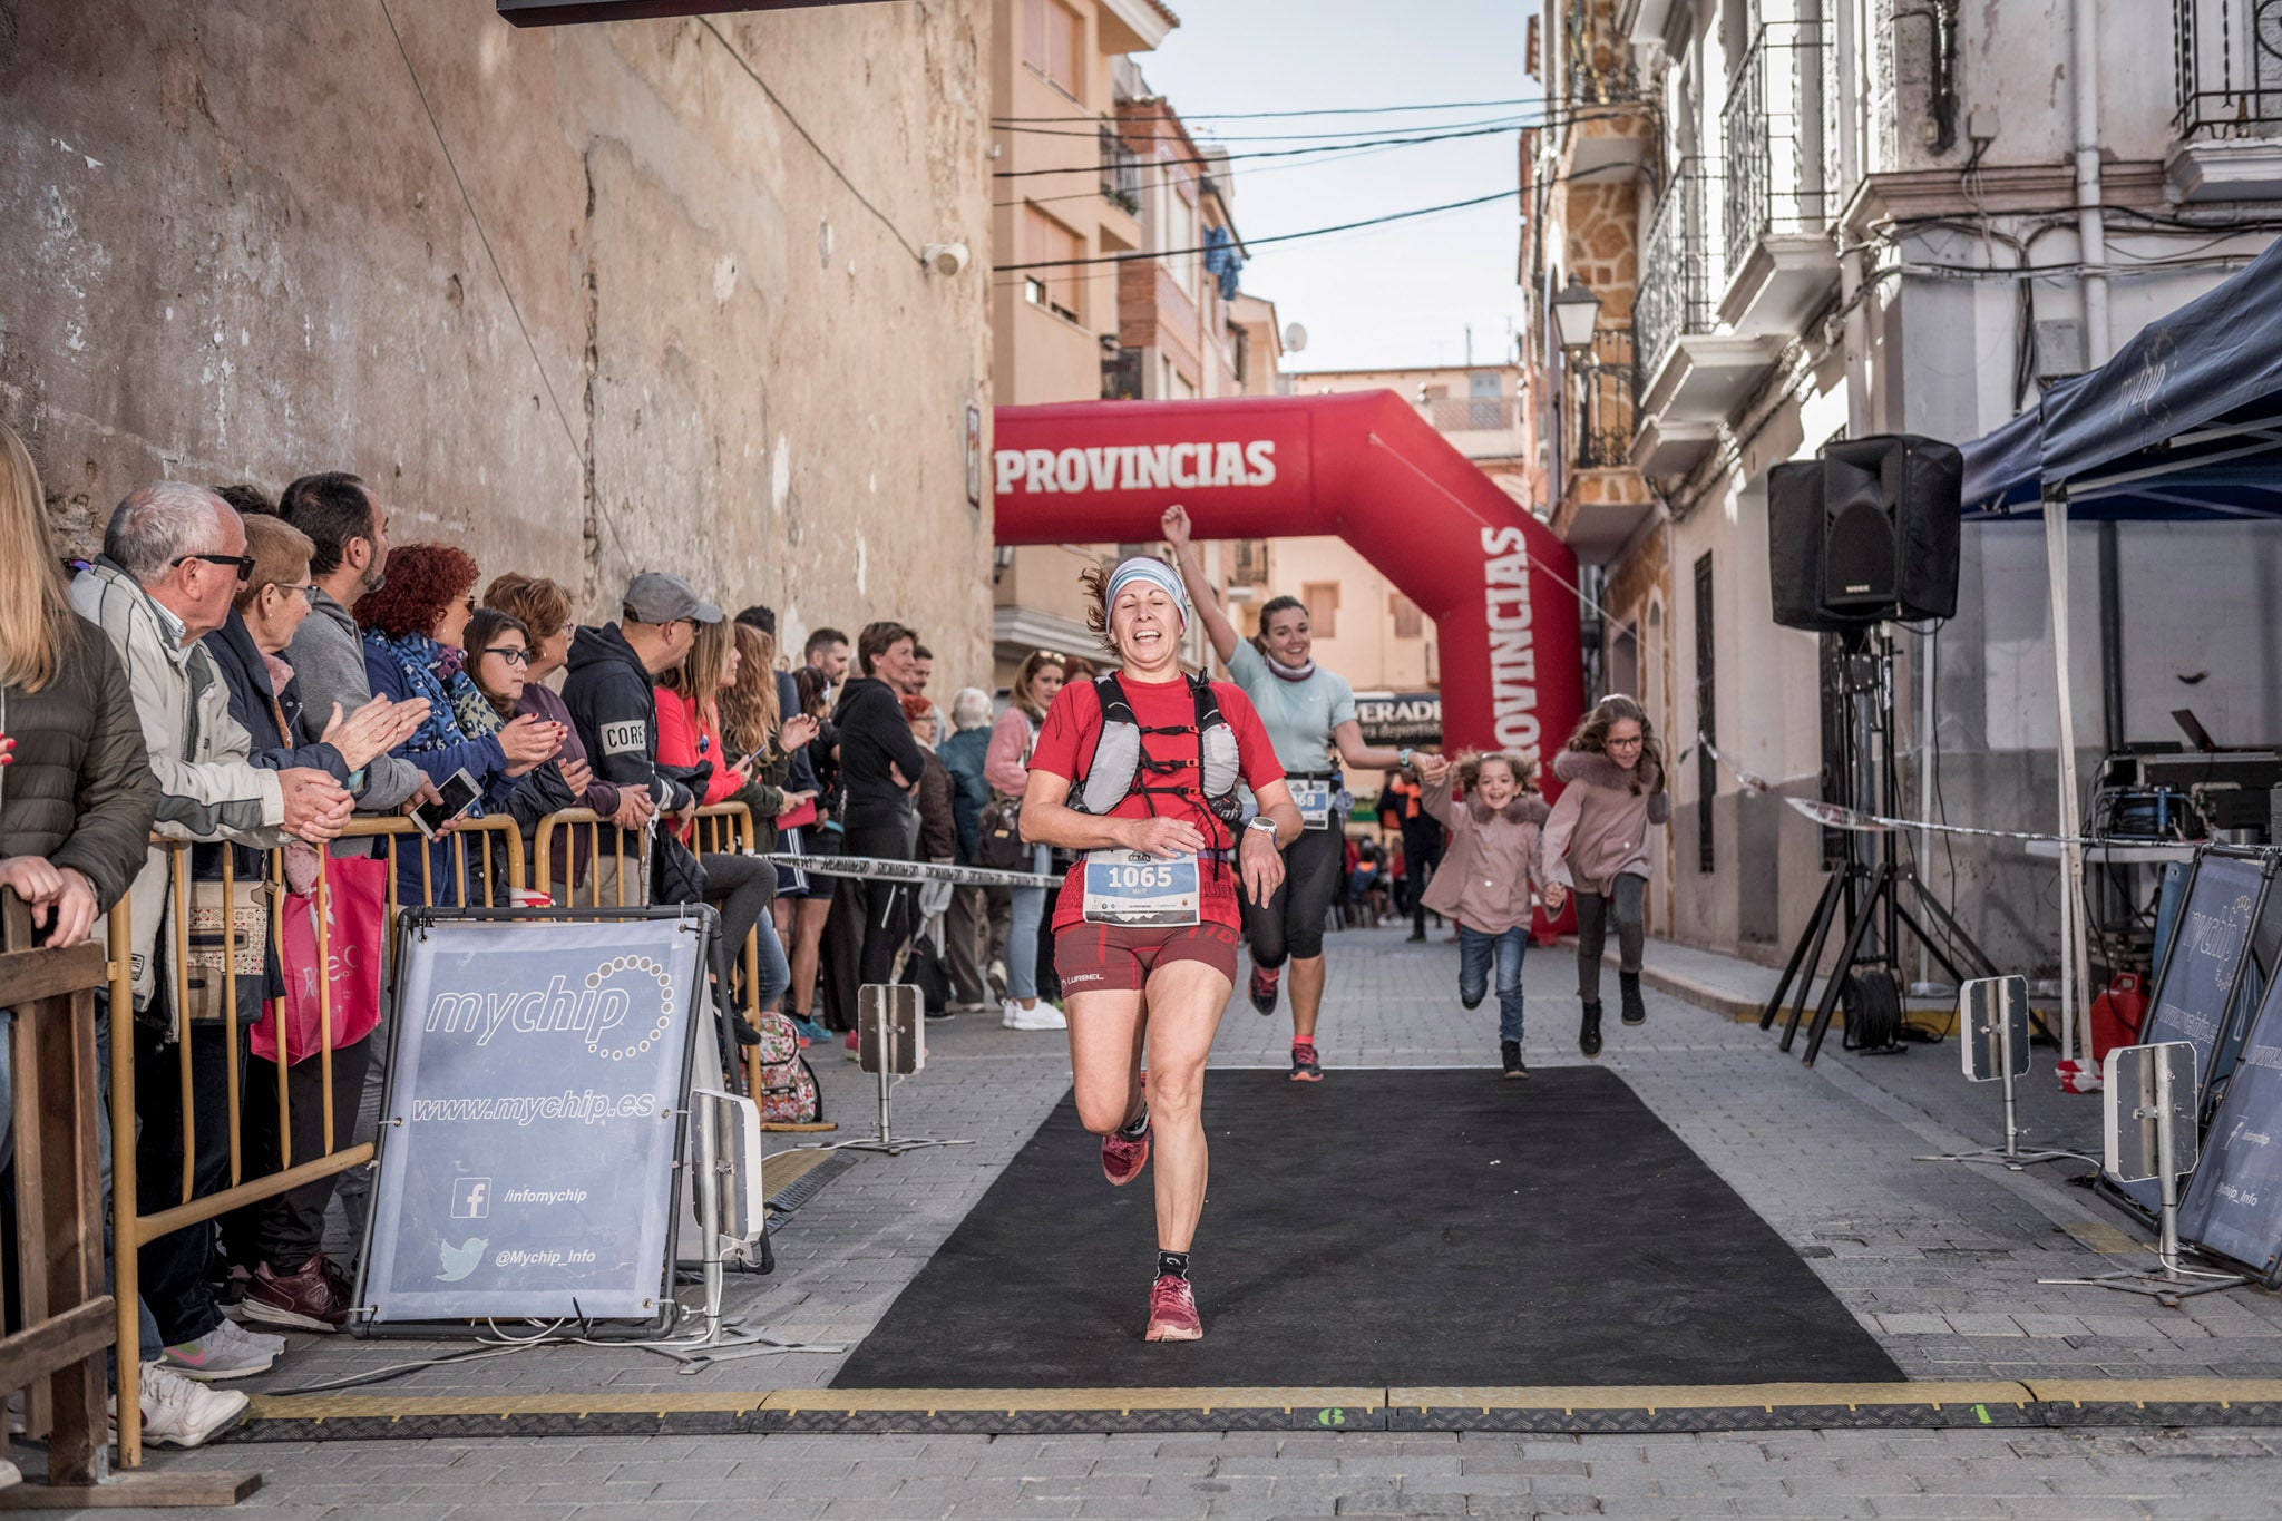
M 1141 1341 L 1150 1177 L 1063 1101 L 837 1389 L 1883 1382 L 1901 1370 L 1604 1067 L 1205 1079 L 1205 1339 Z

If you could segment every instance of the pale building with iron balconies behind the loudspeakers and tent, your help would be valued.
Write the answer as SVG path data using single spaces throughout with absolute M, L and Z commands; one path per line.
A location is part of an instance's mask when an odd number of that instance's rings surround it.
M 2282 82 L 2250 9 L 1547 0 L 1524 363 L 1554 524 L 1597 566 L 1602 684 L 1675 755 L 1664 933 L 1778 960 L 1821 887 L 1782 794 L 1819 791 L 1842 718 L 1830 650 L 1771 623 L 1769 467 L 1976 438 L 2264 246 Z M 1896 636 L 1908 816 L 2052 819 L 2042 556 L 2033 522 L 1967 524 L 1958 616 Z M 2106 618 L 2079 600 L 2079 727 L 2168 739 L 2188 696 L 2230 741 L 2282 727 L 2271 620 L 2225 611 L 2282 575 L 2273 534 L 2083 524 L 2070 556 L 2081 586 L 2129 568 Z M 1949 839 L 1921 873 L 2001 965 L 2056 962 L 2049 864 Z

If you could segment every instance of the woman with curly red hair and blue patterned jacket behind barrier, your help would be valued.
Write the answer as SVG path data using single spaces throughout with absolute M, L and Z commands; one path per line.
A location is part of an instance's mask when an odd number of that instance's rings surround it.
M 482 814 L 504 810 L 520 780 L 561 750 L 564 725 L 529 714 L 502 718 L 468 677 L 461 645 L 475 613 L 475 559 L 463 550 L 397 545 L 388 552 L 388 579 L 358 597 L 354 613 L 365 632 L 365 675 L 374 696 L 429 702 L 429 716 L 395 755 L 431 782 L 466 768 L 484 794 L 470 814 Z M 450 851 L 429 846 L 436 903 L 459 901 L 450 860 Z M 406 898 L 418 901 L 418 853 L 399 857 L 397 878 Z

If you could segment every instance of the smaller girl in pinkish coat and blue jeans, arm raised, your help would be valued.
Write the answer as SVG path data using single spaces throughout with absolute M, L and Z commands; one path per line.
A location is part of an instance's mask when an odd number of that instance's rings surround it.
M 1506 1076 L 1522 1063 L 1522 953 L 1529 949 L 1531 887 L 1545 889 L 1543 825 L 1552 810 L 1536 794 L 1536 764 L 1511 753 L 1419 762 L 1419 805 L 1449 825 L 1449 846 L 1426 908 L 1458 926 L 1458 1001 L 1479 1008 L 1497 962 L 1497 1049 Z M 1451 798 L 1451 784 L 1465 798 Z

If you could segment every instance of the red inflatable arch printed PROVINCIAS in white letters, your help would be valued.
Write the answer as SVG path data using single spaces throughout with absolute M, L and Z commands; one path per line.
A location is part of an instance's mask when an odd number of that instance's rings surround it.
M 997 408 L 997 540 L 1337 534 L 1435 620 L 1442 746 L 1556 748 L 1584 711 L 1577 556 L 1392 390 Z M 1280 588 L 1296 591 L 1296 588 Z

